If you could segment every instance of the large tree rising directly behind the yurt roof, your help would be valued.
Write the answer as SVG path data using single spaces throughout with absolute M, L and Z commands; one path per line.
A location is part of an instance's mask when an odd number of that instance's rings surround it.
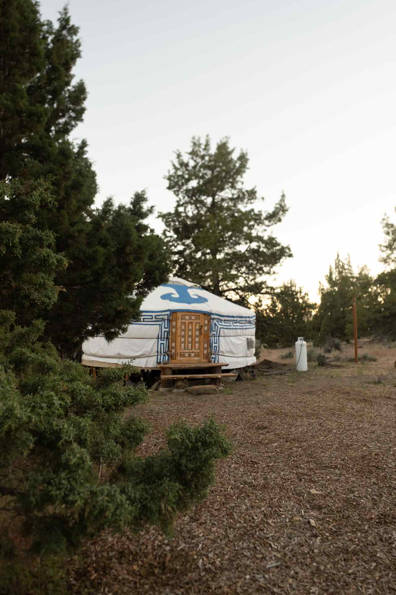
M 287 212 L 284 195 L 272 211 L 256 209 L 256 189 L 243 185 L 248 155 L 234 153 L 227 138 L 212 152 L 209 137 L 194 137 L 185 156 L 177 151 L 165 176 L 176 206 L 160 217 L 175 274 L 246 305 L 267 293 L 264 277 L 292 253 L 268 233 Z

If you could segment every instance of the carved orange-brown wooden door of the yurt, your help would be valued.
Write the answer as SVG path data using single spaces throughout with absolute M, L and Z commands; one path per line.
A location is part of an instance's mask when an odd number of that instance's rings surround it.
M 170 362 L 209 361 L 209 316 L 173 312 L 170 320 Z

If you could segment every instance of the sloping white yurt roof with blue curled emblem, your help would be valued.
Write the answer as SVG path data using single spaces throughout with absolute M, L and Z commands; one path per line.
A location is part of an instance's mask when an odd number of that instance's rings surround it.
M 195 283 L 171 277 L 167 283 L 156 287 L 143 300 L 141 312 L 204 312 L 237 318 L 255 318 L 248 308 L 207 292 Z

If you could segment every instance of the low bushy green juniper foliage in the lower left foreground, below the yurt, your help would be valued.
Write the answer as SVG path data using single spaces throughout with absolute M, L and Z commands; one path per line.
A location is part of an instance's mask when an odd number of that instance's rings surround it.
M 148 391 L 123 386 L 135 369 L 104 368 L 94 379 L 39 342 L 42 321 L 13 324 L 0 311 L 0 497 L 23 517 L 33 551 L 61 552 L 106 527 L 169 531 L 178 511 L 206 496 L 214 461 L 230 452 L 216 422 L 173 425 L 166 449 L 139 458 L 148 426 L 133 408 Z

